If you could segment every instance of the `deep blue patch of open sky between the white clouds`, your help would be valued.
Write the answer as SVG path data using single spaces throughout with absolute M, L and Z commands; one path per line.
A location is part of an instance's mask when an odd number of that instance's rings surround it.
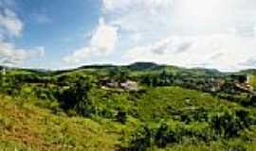
M 16 0 L 15 13 L 23 22 L 22 36 L 12 42 L 16 47 L 42 46 L 45 55 L 31 58 L 24 66 L 62 68 L 62 58 L 86 43 L 86 33 L 98 24 L 101 6 L 97 0 Z M 12 6 L 10 6 L 12 8 Z

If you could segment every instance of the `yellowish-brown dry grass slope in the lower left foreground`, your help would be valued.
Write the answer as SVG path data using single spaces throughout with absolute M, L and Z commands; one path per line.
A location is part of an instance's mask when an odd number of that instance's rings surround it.
M 115 150 L 112 124 L 60 117 L 7 96 L 0 98 L 0 148 L 3 150 Z

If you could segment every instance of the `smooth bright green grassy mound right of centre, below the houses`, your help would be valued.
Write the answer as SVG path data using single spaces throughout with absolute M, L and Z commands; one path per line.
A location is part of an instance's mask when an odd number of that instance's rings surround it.
M 159 121 L 169 119 L 175 111 L 209 110 L 221 105 L 238 106 L 209 93 L 179 87 L 160 87 L 150 89 L 137 101 L 137 111 L 144 121 Z

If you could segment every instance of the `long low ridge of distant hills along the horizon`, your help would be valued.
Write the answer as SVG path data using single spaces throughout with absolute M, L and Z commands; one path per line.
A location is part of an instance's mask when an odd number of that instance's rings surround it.
M 247 74 L 247 75 L 256 75 L 256 69 L 247 69 L 242 70 L 239 72 L 220 72 L 217 69 L 208 69 L 208 68 L 185 68 L 185 67 L 179 67 L 169 64 L 157 64 L 155 62 L 143 62 L 138 61 L 135 63 L 131 63 L 129 65 L 114 65 L 114 64 L 93 64 L 93 65 L 83 65 L 78 68 L 73 69 L 65 69 L 65 70 L 45 70 L 45 69 L 29 69 L 29 68 L 18 68 L 18 67 L 6 67 L 0 65 L 0 70 L 3 68 L 8 68 L 10 70 L 18 70 L 18 71 L 27 71 L 31 73 L 66 73 L 66 72 L 72 72 L 72 71 L 79 71 L 79 70 L 88 70 L 88 69 L 95 69 L 95 70 L 110 70 L 110 69 L 123 69 L 123 70 L 130 70 L 130 71 L 137 71 L 137 72 L 153 72 L 153 71 L 175 71 L 178 73 L 187 73 L 187 74 L 194 74 L 194 73 L 201 73 L 204 75 L 214 75 L 214 76 L 220 76 L 222 74 Z

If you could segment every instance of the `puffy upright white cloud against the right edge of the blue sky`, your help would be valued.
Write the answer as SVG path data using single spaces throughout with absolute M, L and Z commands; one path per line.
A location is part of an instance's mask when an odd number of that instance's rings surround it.
M 113 25 L 107 25 L 103 19 L 100 19 L 99 25 L 93 32 L 88 46 L 75 50 L 70 56 L 64 58 L 68 63 L 80 63 L 93 55 L 109 55 L 112 53 L 118 42 L 118 28 Z

